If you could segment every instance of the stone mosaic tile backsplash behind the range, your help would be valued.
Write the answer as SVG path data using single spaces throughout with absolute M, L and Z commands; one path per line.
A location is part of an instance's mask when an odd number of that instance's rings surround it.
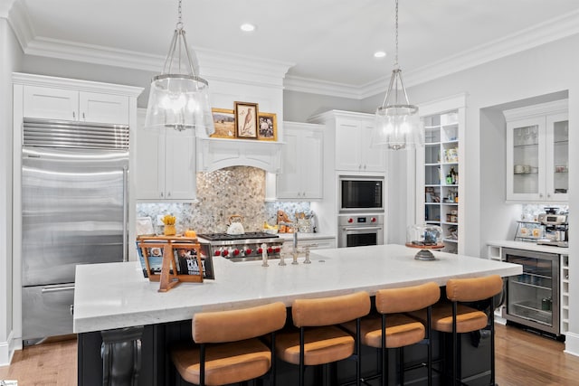
M 157 233 L 157 215 L 176 216 L 178 233 L 192 229 L 198 233 L 227 231 L 229 217 L 243 217 L 245 231 L 261 231 L 263 221 L 275 224 L 278 210 L 293 219 L 295 212 L 309 212 L 309 202 L 264 202 L 265 172 L 256 167 L 233 166 L 211 173 L 197 173 L 197 200 L 199 202 L 140 202 L 138 217 L 153 219 Z

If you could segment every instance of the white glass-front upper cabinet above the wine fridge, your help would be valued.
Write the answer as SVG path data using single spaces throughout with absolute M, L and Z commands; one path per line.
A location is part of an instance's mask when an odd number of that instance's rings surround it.
M 504 111 L 507 201 L 566 202 L 569 177 L 567 99 Z

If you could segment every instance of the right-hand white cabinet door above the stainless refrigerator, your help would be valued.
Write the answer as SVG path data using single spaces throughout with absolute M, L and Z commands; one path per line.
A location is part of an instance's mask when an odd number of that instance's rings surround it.
M 86 122 L 128 125 L 128 97 L 81 91 L 78 119 Z

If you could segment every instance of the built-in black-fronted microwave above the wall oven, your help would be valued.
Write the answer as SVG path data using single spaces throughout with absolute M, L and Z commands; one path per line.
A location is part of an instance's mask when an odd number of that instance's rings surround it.
M 339 212 L 383 212 L 384 177 L 339 177 Z

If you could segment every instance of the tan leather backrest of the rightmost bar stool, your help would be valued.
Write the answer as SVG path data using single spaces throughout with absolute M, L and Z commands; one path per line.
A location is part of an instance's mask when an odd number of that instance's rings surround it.
M 494 297 L 503 290 L 498 275 L 484 278 L 451 278 L 446 282 L 446 297 L 453 302 L 475 302 Z

